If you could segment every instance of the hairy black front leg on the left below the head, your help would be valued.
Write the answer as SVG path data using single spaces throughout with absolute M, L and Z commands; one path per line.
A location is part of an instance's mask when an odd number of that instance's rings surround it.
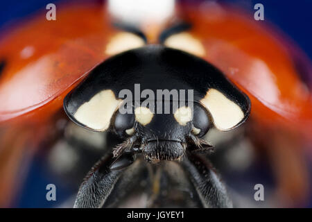
M 128 160 L 128 161 L 125 161 Z M 125 162 L 124 167 L 114 167 L 116 164 Z M 96 208 L 102 207 L 110 195 L 121 173 L 131 164 L 129 153 L 125 157 L 121 155 L 116 161 L 113 154 L 106 155 L 99 160 L 92 170 L 89 171 L 78 191 L 74 208 Z

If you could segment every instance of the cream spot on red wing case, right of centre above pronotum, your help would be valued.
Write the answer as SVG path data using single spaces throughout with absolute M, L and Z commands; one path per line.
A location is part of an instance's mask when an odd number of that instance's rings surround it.
M 197 40 L 189 33 L 171 35 L 166 39 L 164 44 L 173 49 L 187 51 L 196 56 L 205 56 L 205 48 L 200 40 Z

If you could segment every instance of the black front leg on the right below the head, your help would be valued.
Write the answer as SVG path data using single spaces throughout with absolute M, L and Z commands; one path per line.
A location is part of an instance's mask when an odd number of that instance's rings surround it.
M 182 161 L 204 207 L 232 207 L 225 186 L 211 164 L 200 155 L 189 153 Z

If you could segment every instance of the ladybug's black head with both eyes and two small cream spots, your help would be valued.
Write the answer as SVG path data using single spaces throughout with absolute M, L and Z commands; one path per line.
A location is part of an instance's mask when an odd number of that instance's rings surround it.
M 209 114 L 200 103 L 148 101 L 148 106 L 138 104 L 132 110 L 125 114 L 123 110 L 117 111 L 112 125 L 120 137 L 134 136 L 139 140 L 138 150 L 146 160 L 180 160 L 190 143 L 209 145 L 200 144 L 198 139 L 212 126 Z

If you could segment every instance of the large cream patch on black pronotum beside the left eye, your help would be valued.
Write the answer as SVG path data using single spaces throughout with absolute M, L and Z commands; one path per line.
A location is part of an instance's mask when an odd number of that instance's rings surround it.
M 104 131 L 110 126 L 110 119 L 121 102 L 112 90 L 105 89 L 80 105 L 73 117 L 93 130 Z

